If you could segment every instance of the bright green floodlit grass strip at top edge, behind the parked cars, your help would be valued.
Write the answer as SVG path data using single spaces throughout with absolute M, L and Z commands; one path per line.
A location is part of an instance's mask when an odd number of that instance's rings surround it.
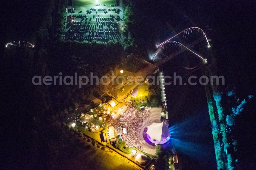
M 116 4 L 115 0 L 74 0 L 73 6 L 86 6 L 86 5 L 96 5 L 103 4 L 105 5 L 114 5 Z

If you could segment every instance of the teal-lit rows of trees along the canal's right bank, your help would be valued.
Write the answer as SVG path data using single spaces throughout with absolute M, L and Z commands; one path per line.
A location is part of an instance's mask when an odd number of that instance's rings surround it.
M 214 76 L 217 74 L 216 57 L 212 54 L 207 65 L 203 65 L 203 74 L 206 76 Z M 234 89 L 226 92 L 221 90 L 220 86 L 214 82 L 212 85 L 206 85 L 206 97 L 210 121 L 212 125 L 212 136 L 214 140 L 215 155 L 217 161 L 217 169 L 234 169 L 235 152 L 238 143 L 233 139 L 232 130 L 236 123 L 236 116 L 241 114 L 247 100 L 243 100 L 239 104 L 236 99 Z M 249 95 L 248 100 L 253 96 Z M 238 105 L 234 107 L 234 105 Z

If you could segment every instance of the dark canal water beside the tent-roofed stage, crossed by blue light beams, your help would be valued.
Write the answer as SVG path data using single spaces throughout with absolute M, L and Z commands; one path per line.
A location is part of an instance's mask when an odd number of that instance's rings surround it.
M 189 71 L 180 68 L 184 62 L 181 58 L 186 54 L 184 52 L 166 63 L 164 75 L 173 77 L 176 72 L 186 82 Z M 200 77 L 201 69 L 189 75 Z M 165 89 L 171 139 L 163 147 L 176 149 L 181 169 L 216 169 L 205 87 L 200 84 L 169 85 Z

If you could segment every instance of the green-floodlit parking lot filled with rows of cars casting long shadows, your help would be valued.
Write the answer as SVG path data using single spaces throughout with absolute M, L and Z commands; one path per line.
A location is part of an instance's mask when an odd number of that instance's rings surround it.
M 65 40 L 122 41 L 122 10 L 116 1 L 74 0 L 66 10 Z

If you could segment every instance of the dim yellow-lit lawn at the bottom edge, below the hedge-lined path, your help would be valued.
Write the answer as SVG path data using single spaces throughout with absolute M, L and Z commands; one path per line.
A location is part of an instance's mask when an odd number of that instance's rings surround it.
M 97 149 L 95 146 L 88 148 L 90 143 L 81 140 L 67 140 L 59 150 L 56 169 L 90 169 L 90 170 L 123 170 L 136 169 L 131 163 L 120 158 L 119 155 L 110 155 L 108 152 Z

